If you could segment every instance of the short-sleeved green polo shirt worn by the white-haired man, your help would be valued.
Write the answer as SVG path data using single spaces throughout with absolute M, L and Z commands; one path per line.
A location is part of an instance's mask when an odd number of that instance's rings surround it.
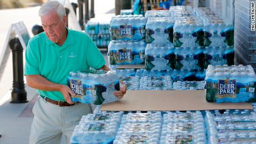
M 67 85 L 69 72 L 99 69 L 104 64 L 104 57 L 86 33 L 68 29 L 66 41 L 58 46 L 42 32 L 28 42 L 24 75 L 41 75 L 48 81 Z M 66 101 L 58 91 L 37 92 L 52 100 Z

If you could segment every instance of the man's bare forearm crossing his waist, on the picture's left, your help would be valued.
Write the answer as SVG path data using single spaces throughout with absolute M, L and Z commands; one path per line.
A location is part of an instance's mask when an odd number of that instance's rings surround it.
M 42 91 L 60 91 L 62 85 L 48 81 L 40 75 L 27 75 L 27 85 Z

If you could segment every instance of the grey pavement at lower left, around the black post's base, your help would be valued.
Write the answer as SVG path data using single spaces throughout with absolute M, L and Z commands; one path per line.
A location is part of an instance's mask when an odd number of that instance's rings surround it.
M 26 87 L 27 103 L 9 103 L 11 91 L 0 103 L 0 143 L 29 143 L 29 133 L 33 121 L 32 107 L 37 98 L 36 90 Z M 34 99 L 33 99 L 34 98 Z M 33 101 L 32 101 L 33 99 Z

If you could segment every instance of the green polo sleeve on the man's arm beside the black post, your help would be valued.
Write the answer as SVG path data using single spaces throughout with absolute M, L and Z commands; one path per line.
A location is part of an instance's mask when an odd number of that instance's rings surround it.
M 33 41 L 28 42 L 25 58 L 24 75 L 40 75 L 38 46 Z

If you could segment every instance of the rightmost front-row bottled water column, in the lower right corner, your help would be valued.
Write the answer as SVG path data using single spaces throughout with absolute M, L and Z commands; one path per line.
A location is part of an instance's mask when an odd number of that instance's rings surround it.
M 256 115 L 249 110 L 206 112 L 208 142 L 256 143 Z

